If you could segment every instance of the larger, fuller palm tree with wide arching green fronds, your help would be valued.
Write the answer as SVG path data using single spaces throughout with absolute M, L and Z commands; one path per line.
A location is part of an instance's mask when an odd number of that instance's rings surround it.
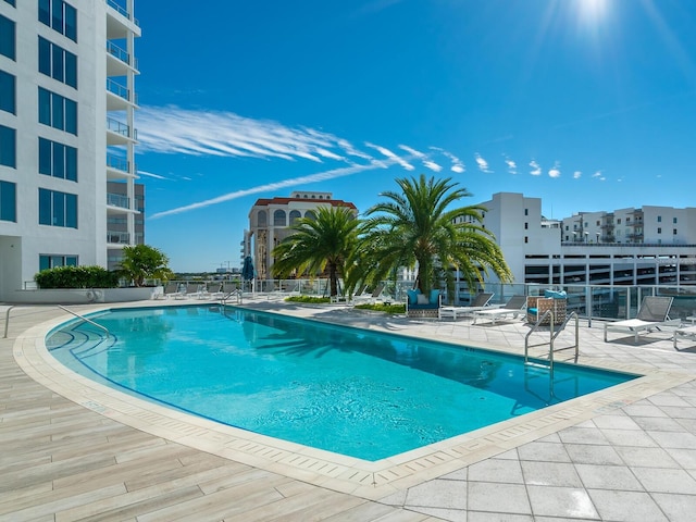
M 456 188 L 458 184 L 451 178 L 426 179 L 423 174 L 396 183 L 400 192 L 383 192 L 387 201 L 365 212 L 358 249 L 360 274 L 351 277 L 351 285 L 358 277 L 368 283 L 383 281 L 399 266 L 418 268 L 414 287 L 423 294 L 439 286 L 442 279 L 451 290 L 452 266 L 459 269 L 469 288 L 483 284 L 484 274 L 489 272 L 502 282 L 512 279 L 495 237 L 481 225 L 486 209 L 471 206 L 448 210 L 471 196 L 467 189 Z

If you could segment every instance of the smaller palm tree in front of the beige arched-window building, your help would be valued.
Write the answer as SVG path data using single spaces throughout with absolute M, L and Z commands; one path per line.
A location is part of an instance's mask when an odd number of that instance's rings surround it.
M 294 233 L 273 249 L 273 275 L 328 272 L 331 295 L 338 295 L 338 277 L 346 275 L 346 261 L 353 257 L 358 224 L 346 207 L 319 207 L 314 217 L 297 220 L 290 226 Z

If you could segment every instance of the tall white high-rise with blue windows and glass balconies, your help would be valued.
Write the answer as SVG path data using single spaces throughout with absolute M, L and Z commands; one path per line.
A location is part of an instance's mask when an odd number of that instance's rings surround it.
M 0 0 L 0 299 L 141 243 L 134 1 Z

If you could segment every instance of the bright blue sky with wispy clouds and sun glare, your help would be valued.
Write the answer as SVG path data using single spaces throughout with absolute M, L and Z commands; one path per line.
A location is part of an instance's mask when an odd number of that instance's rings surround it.
M 549 217 L 694 206 L 696 2 L 136 2 L 146 243 L 239 266 L 260 197 L 360 211 L 395 178 L 542 198 Z

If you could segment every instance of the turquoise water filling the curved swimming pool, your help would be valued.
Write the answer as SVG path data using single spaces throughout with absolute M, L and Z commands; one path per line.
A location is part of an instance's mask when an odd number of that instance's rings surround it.
M 53 330 L 62 363 L 217 422 L 378 460 L 634 378 L 219 306 L 114 310 Z

